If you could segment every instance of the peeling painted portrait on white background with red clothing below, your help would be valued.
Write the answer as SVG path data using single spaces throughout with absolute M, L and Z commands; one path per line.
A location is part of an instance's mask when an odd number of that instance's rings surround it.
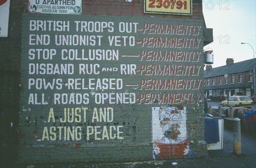
M 154 159 L 195 157 L 189 149 L 186 127 L 186 107 L 152 108 L 152 141 Z

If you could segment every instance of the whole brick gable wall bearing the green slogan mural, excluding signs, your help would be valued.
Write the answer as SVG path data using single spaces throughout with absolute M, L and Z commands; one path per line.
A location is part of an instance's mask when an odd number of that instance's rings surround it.
M 28 3 L 22 5 L 12 6 L 23 13 L 19 162 L 207 157 L 204 105 L 198 103 L 204 97 L 200 2 L 193 3 L 192 16 L 144 14 L 143 1 L 82 1 L 82 15 L 27 14 Z M 65 21 L 68 29 L 36 27 L 38 20 Z M 82 21 L 106 28 L 81 31 L 77 25 Z M 173 32 L 151 34 L 159 25 L 173 26 Z M 85 43 L 76 43 L 84 35 Z M 63 42 L 70 37 L 75 41 Z M 124 43 L 124 38 L 130 40 Z M 96 59 L 96 50 L 114 56 Z M 39 64 L 53 65 L 56 71 L 67 65 L 70 74 L 37 72 Z M 100 97 L 108 98 L 103 102 Z

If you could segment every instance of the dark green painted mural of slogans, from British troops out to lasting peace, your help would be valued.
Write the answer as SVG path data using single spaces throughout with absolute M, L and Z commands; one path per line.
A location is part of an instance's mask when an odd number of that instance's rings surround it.
M 147 158 L 193 157 L 188 111 L 165 106 L 203 96 L 203 23 L 60 16 L 23 14 L 19 122 L 26 146 L 146 145 L 154 151 Z M 130 158 L 134 149 L 126 152 Z

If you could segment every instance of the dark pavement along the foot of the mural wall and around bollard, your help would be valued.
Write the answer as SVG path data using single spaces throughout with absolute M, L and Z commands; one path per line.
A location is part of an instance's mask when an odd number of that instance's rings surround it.
M 10 165 L 12 168 L 256 168 L 256 131 L 241 132 L 241 154 L 233 152 L 233 129 L 224 128 L 223 149 L 208 150 L 207 158 L 125 163 L 60 163 Z

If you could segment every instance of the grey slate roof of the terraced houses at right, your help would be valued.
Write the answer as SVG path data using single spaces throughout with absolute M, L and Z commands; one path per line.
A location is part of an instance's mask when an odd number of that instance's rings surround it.
M 204 78 L 219 77 L 224 76 L 224 74 L 237 74 L 246 71 L 253 71 L 253 63 L 256 61 L 254 59 L 256 58 L 205 70 Z

